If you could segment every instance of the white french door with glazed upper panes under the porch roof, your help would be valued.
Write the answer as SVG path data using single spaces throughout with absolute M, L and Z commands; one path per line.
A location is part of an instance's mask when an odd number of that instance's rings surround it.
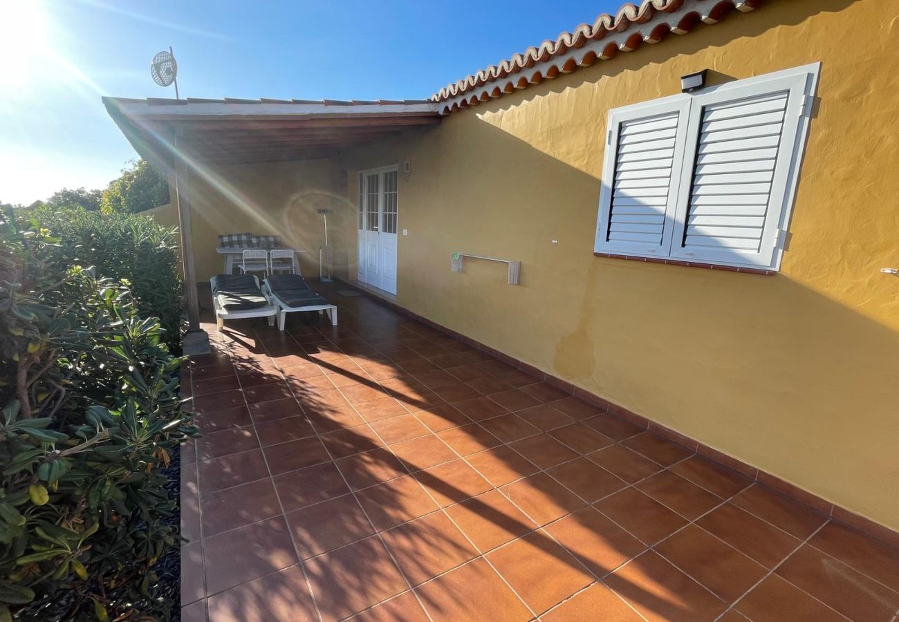
M 396 294 L 396 166 L 359 173 L 358 279 Z

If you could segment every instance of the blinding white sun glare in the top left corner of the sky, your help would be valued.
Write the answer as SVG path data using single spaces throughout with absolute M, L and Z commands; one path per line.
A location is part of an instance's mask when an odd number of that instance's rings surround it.
M 6 87 L 22 88 L 49 63 L 50 41 L 43 4 L 36 0 L 0 2 L 0 58 Z

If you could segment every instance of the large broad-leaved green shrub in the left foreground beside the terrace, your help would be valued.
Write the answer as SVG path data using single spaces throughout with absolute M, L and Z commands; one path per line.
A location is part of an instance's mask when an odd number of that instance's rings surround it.
M 196 434 L 181 361 L 124 283 L 65 267 L 58 239 L 14 218 L 0 215 L 0 621 L 60 602 L 65 619 L 167 618 L 152 566 L 179 535 L 160 471 Z

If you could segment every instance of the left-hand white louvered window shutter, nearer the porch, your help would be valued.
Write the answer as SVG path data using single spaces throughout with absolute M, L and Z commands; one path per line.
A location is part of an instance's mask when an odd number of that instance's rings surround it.
M 668 254 L 689 111 L 685 95 L 610 111 L 597 253 Z

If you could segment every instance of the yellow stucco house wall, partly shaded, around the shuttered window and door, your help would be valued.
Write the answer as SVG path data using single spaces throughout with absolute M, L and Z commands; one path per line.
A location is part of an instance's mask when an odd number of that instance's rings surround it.
M 317 253 L 321 202 L 354 276 L 355 171 L 408 156 L 399 304 L 899 529 L 899 279 L 879 272 L 899 264 L 896 14 L 899 0 L 769 2 L 334 162 L 210 171 L 191 183 L 198 278 L 220 270 L 217 233 Z M 610 108 L 702 68 L 720 82 L 814 61 L 779 274 L 593 256 Z M 450 272 L 455 251 L 521 260 L 521 287 L 499 264 Z

